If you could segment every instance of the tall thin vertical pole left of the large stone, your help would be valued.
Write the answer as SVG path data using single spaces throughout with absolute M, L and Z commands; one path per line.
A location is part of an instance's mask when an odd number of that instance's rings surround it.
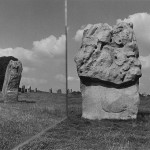
M 65 0 L 65 35 L 66 35 L 66 115 L 68 117 L 68 29 L 67 29 L 67 0 Z

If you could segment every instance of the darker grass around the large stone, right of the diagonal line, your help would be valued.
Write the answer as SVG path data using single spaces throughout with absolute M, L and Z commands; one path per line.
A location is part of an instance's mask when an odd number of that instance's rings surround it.
M 90 121 L 81 118 L 81 97 L 70 97 L 69 104 L 68 119 L 20 150 L 150 150 L 149 97 L 141 97 L 134 121 Z

